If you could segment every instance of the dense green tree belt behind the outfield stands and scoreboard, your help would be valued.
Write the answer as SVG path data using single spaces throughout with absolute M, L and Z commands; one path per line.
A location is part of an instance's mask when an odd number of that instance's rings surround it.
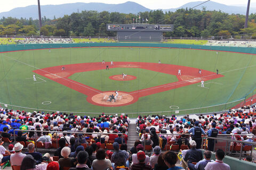
M 140 19 L 139 19 L 140 16 Z M 256 37 L 256 14 L 250 14 L 249 26 L 244 29 L 245 16 L 227 14 L 221 11 L 179 9 L 175 12 L 155 10 L 135 14 L 118 12 L 82 11 L 62 18 L 42 18 L 39 30 L 38 20 L 2 18 L 0 35 L 44 35 L 44 36 L 115 36 L 106 31 L 107 23 L 147 23 L 174 24 L 174 32 L 166 32 L 167 37 L 210 37 L 241 36 Z

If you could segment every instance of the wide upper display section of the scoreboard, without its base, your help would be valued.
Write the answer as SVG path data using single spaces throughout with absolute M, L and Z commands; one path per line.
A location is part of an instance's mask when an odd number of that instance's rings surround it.
M 173 24 L 107 24 L 107 31 L 173 31 Z

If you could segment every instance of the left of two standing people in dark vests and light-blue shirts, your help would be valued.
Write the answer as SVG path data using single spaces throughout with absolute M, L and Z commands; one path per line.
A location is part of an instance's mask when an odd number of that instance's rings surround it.
M 192 139 L 196 141 L 196 149 L 201 149 L 202 134 L 206 135 L 203 128 L 198 127 L 199 122 L 195 122 L 195 127 L 188 130 L 186 133 L 192 133 Z

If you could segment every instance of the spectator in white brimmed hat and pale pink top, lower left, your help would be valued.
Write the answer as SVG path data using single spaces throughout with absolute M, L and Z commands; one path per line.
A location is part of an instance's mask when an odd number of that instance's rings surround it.
M 22 149 L 23 145 L 21 145 L 19 142 L 14 145 L 15 154 L 11 155 L 11 165 L 21 165 L 23 158 L 26 156 L 26 154 L 21 153 Z

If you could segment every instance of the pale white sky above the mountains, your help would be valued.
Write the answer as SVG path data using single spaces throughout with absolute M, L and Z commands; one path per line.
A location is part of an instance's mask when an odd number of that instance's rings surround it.
M 151 10 L 155 9 L 169 9 L 180 7 L 189 2 L 195 1 L 204 1 L 204 0 L 40 0 L 41 5 L 57 5 L 57 4 L 66 4 L 66 3 L 76 3 L 76 2 L 101 2 L 106 4 L 121 4 L 127 1 L 136 2 L 141 4 Z M 206 0 L 205 0 L 206 1 Z M 226 5 L 243 5 L 246 6 L 247 0 L 211 0 L 214 2 L 226 4 Z M 251 0 L 252 6 L 256 6 L 256 0 Z M 15 7 L 24 7 L 28 5 L 37 5 L 37 0 L 0 0 L 0 12 L 10 11 Z

